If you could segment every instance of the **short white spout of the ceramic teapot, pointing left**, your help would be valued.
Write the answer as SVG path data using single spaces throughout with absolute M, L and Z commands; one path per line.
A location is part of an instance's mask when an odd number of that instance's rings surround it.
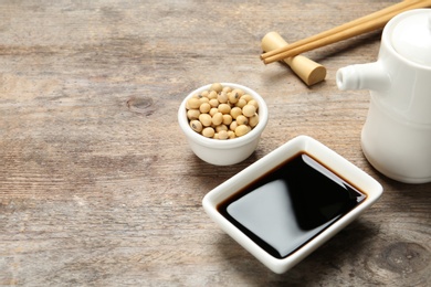
M 389 74 L 379 61 L 341 67 L 337 71 L 336 81 L 340 91 L 370 89 L 383 92 L 390 87 Z

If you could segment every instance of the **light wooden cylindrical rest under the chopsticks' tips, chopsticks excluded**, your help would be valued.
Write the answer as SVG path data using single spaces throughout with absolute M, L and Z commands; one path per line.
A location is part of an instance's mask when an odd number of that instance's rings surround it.
M 287 45 L 287 42 L 277 32 L 270 32 L 262 39 L 262 50 L 264 52 L 270 52 L 285 45 Z M 283 61 L 308 86 L 322 82 L 326 77 L 326 67 L 306 56 L 297 55 L 284 59 Z

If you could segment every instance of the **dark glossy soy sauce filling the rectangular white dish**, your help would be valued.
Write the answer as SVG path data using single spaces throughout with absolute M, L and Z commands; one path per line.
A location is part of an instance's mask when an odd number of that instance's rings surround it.
M 272 256 L 284 258 L 365 199 L 301 152 L 227 199 L 218 211 Z

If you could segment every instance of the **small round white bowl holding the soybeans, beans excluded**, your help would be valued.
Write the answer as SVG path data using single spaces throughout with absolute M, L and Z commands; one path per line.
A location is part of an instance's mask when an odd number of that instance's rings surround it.
M 267 106 L 261 95 L 253 89 L 232 83 L 221 83 L 223 86 L 232 88 L 241 88 L 246 94 L 251 95 L 259 105 L 259 124 L 246 135 L 234 139 L 219 140 L 206 138 L 202 135 L 193 131 L 187 118 L 186 103 L 187 100 L 202 91 L 209 89 L 210 85 L 202 86 L 191 92 L 181 103 L 178 109 L 178 123 L 185 132 L 191 150 L 203 161 L 216 166 L 230 166 L 241 162 L 249 158 L 256 149 L 262 131 L 267 123 Z

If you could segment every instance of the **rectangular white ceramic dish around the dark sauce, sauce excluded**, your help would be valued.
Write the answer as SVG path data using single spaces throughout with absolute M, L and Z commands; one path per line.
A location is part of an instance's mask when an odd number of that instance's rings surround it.
M 301 151 L 305 151 L 322 161 L 327 168 L 338 173 L 347 182 L 354 184 L 359 190 L 365 192 L 367 194 L 367 199 L 346 215 L 340 217 L 338 221 L 329 225 L 329 227 L 314 237 L 311 242 L 302 246 L 299 249 L 290 256 L 280 259 L 266 253 L 238 227 L 235 227 L 235 225 L 233 225 L 218 212 L 217 206 L 232 194 L 242 190 L 254 180 L 263 177 L 265 173 Z M 308 254 L 311 254 L 318 246 L 328 241 L 337 232 L 354 221 L 361 212 L 375 203 L 381 193 L 382 187 L 362 170 L 315 139 L 307 136 L 299 136 L 290 140 L 285 145 L 281 146 L 267 156 L 236 173 L 234 177 L 227 180 L 216 189 L 211 190 L 203 198 L 202 205 L 208 215 L 225 233 L 228 233 L 233 240 L 235 240 L 271 270 L 282 274 L 304 259 Z

